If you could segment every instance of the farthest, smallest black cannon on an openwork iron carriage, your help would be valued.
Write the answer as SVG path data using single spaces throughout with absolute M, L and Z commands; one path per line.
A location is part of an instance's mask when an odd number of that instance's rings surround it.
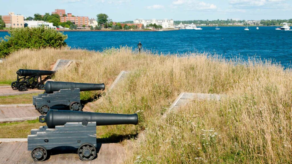
M 34 88 L 44 89 L 44 82 L 50 79 L 54 73 L 55 71 L 19 69 L 16 72 L 17 80 L 11 83 L 11 88 L 19 91 Z M 42 79 L 41 76 L 46 76 L 46 78 Z

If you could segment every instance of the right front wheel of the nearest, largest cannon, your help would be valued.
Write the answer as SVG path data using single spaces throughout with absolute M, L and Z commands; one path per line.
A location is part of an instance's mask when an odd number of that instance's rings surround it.
M 78 149 L 81 160 L 92 160 L 96 156 L 96 149 L 92 144 L 82 144 Z

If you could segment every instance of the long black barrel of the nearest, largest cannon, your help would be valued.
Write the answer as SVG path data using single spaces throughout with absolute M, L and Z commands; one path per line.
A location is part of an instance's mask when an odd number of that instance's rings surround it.
M 111 114 L 82 111 L 54 110 L 48 111 L 46 116 L 39 116 L 39 122 L 46 123 L 48 128 L 57 125 L 76 122 L 96 122 L 96 125 L 138 124 L 138 114 Z

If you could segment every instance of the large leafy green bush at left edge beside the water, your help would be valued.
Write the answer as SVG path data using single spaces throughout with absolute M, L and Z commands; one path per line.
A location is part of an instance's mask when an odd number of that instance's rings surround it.
M 14 28 L 10 36 L 0 40 L 0 58 L 20 49 L 62 48 L 67 46 L 67 35 L 44 26 L 38 28 Z

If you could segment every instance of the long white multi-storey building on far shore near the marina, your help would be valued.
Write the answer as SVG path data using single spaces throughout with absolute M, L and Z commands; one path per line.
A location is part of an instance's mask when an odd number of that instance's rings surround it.
M 173 19 L 163 19 L 163 20 L 156 20 L 156 19 L 151 19 L 151 20 L 145 20 L 145 19 L 135 19 L 134 23 L 142 23 L 145 27 L 147 25 L 156 24 L 156 25 L 161 25 L 162 28 L 174 28 L 173 26 Z

